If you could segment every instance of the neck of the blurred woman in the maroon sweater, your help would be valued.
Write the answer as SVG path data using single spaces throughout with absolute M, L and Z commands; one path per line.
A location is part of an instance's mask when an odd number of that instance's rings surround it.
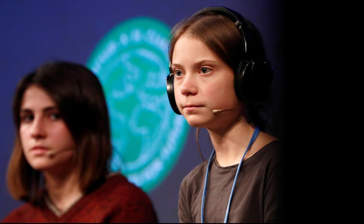
M 55 174 L 44 171 L 43 173 L 48 196 L 60 212 L 67 210 L 82 197 L 78 175 L 75 172 Z

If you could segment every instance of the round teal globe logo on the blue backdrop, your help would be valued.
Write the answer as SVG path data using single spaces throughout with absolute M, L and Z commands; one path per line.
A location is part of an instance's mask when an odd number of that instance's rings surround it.
M 110 111 L 111 169 L 146 192 L 169 173 L 189 130 L 167 98 L 169 32 L 161 21 L 130 19 L 108 32 L 87 61 Z

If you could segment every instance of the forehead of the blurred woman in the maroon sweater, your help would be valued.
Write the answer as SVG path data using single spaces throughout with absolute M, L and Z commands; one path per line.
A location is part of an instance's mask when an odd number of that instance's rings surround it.
M 38 86 L 29 86 L 21 99 L 21 109 L 43 109 L 45 107 L 56 106 L 54 100 L 46 91 Z

